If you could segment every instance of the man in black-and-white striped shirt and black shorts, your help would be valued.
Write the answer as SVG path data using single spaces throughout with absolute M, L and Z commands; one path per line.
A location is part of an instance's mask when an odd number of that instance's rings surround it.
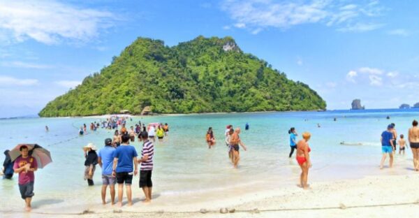
M 140 188 L 145 194 L 145 203 L 152 201 L 152 170 L 153 170 L 153 156 L 154 156 L 154 145 L 152 141 L 148 139 L 148 133 L 146 131 L 141 132 L 141 138 L 144 142 L 142 144 L 141 159 L 138 161 L 141 163 L 140 166 Z

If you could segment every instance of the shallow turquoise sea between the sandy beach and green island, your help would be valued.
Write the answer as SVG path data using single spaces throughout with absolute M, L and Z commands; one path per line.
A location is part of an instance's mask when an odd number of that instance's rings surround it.
M 389 116 L 390 119 L 386 119 Z M 337 120 L 334 121 L 334 118 Z M 415 173 L 412 155 L 396 155 L 395 168 L 378 169 L 381 159 L 381 132 L 395 123 L 398 133 L 407 136 L 413 119 L 419 119 L 418 109 L 409 110 L 334 110 L 325 112 L 256 112 L 205 115 L 163 115 L 133 117 L 128 126 L 163 122 L 170 126 L 163 143 L 155 143 L 154 203 L 181 205 L 196 201 L 212 201 L 220 194 L 242 194 L 274 187 L 295 186 L 300 168 L 288 159 L 288 129 L 312 135 L 313 167 L 309 182 L 347 180 L 368 175 L 404 175 Z M 38 143 L 50 150 L 53 163 L 36 172 L 34 209 L 52 212 L 82 211 L 82 208 L 101 204 L 101 169 L 94 175 L 94 187 L 83 180 L 82 147 L 95 143 L 103 147 L 112 130 L 98 129 L 78 136 L 82 124 L 101 118 L 30 118 L 0 120 L 0 150 L 11 149 L 19 143 Z M 249 123 L 249 131 L 244 124 Z M 241 150 L 240 168 L 233 169 L 223 143 L 226 125 L 242 127 L 241 138 L 247 152 Z M 317 126 L 320 124 L 320 128 Z M 45 125 L 50 131 L 45 131 Z M 212 126 L 217 143 L 208 149 L 205 133 Z M 301 136 L 298 136 L 300 139 Z M 340 145 L 362 143 L 362 145 Z M 140 153 L 141 145 L 132 143 Z M 0 161 L 3 162 L 3 156 Z M 388 161 L 386 162 L 388 164 Z M 133 180 L 133 198 L 143 198 L 138 188 L 138 176 Z M 135 200 L 136 199 L 136 200 Z M 20 211 L 17 176 L 0 180 L 0 212 Z

